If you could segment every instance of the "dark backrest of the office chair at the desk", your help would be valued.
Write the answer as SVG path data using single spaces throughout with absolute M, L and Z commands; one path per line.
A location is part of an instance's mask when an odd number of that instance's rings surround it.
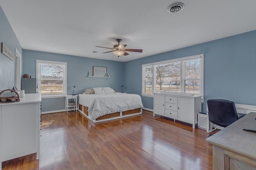
M 209 120 L 219 126 L 227 127 L 238 120 L 234 102 L 224 99 L 208 99 Z

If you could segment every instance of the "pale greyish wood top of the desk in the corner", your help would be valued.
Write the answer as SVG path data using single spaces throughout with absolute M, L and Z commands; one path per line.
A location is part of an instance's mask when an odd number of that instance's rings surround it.
M 250 112 L 238 121 L 208 137 L 207 142 L 256 159 L 256 133 L 243 129 L 256 130 L 256 113 Z

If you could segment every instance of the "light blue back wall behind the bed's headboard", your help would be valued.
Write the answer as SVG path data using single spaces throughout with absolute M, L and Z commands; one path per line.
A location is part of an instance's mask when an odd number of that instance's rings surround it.
M 24 74 L 36 78 L 36 60 L 67 63 L 67 94 L 72 94 L 73 86 L 76 86 L 75 94 L 82 94 L 85 89 L 93 87 L 111 87 L 116 92 L 121 92 L 122 83 L 124 82 L 124 63 L 122 62 L 23 50 Z M 87 77 L 88 70 L 92 74 L 92 66 L 107 67 L 107 72 L 111 78 Z M 42 112 L 62 109 L 65 109 L 65 98 L 42 99 Z

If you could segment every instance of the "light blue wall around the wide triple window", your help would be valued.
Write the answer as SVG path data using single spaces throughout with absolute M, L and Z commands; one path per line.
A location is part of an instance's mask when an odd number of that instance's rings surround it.
M 142 64 L 199 54 L 204 54 L 202 111 L 206 112 L 209 98 L 256 105 L 256 30 L 126 62 L 126 91 L 141 95 Z M 153 109 L 153 98 L 142 96 L 142 102 L 144 107 Z

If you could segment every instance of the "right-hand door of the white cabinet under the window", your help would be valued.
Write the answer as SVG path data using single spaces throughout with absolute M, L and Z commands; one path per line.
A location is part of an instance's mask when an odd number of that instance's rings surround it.
M 194 122 L 194 100 L 192 98 L 178 98 L 179 120 L 187 123 Z

